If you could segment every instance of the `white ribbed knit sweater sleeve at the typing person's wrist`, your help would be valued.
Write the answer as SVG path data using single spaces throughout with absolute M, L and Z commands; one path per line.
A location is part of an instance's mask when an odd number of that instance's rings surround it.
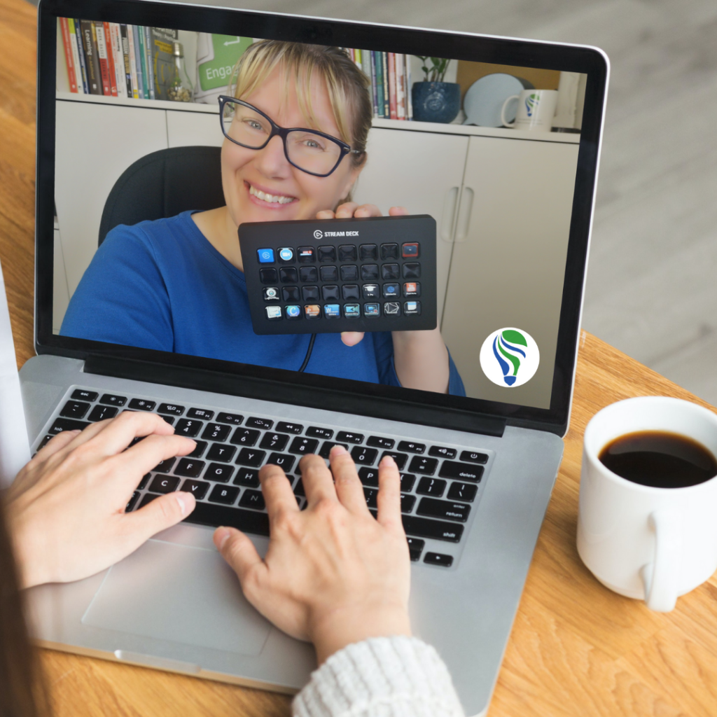
M 464 717 L 448 670 L 415 637 L 372 637 L 331 655 L 296 695 L 294 717 Z

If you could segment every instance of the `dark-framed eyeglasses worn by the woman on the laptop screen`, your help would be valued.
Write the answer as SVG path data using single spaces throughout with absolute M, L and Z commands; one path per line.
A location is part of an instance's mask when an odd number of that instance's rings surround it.
M 219 121 L 224 136 L 247 149 L 263 149 L 272 137 L 280 136 L 288 162 L 317 177 L 328 177 L 347 154 L 361 154 L 324 132 L 280 127 L 253 105 L 227 95 L 219 97 Z

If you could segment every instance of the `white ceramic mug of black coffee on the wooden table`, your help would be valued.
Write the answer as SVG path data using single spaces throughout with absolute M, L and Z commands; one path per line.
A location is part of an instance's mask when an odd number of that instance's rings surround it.
M 717 570 L 717 477 L 685 488 L 621 478 L 598 456 L 638 431 L 676 433 L 717 456 L 717 415 L 680 399 L 640 397 L 602 409 L 585 429 L 578 553 L 604 586 L 669 612 Z

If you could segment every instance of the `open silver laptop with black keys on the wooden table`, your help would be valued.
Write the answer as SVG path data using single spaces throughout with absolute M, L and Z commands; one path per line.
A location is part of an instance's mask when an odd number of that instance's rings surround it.
M 304 108 L 289 123 L 291 97 L 272 105 L 269 74 L 238 98 L 244 105 L 234 101 L 237 62 L 262 65 L 274 41 L 298 57 L 330 55 L 368 113 L 360 156 L 342 158 L 333 179 L 311 174 L 290 142 L 282 152 L 275 137 L 256 149 L 229 136 L 231 105 L 303 128 L 302 150 L 315 150 L 319 140 L 305 136 L 318 132 L 351 153 L 336 98 L 328 120 Z M 171 490 L 198 500 L 110 569 L 30 590 L 39 644 L 302 688 L 313 648 L 246 602 L 212 532 L 237 526 L 265 551 L 261 465 L 285 467 L 303 507 L 301 455 L 326 457 L 338 442 L 370 508 L 378 461 L 396 457 L 414 634 L 447 663 L 467 714 L 485 713 L 569 424 L 607 77 L 607 57 L 592 47 L 191 3 L 42 0 L 37 356 L 20 373 L 33 450 L 123 410 L 157 412 L 197 449 L 144 476 L 127 510 Z M 351 112 L 344 127 L 358 124 Z M 274 168 L 259 166 L 270 147 Z M 246 163 L 227 178 L 230 152 Z M 357 204 L 383 217 L 401 208 L 390 226 L 315 226 L 295 211 L 302 191 L 313 196 L 306 187 L 341 171 L 354 171 Z M 234 211 L 237 196 L 252 210 L 229 216 L 250 217 L 239 233 L 256 242 L 242 247 L 246 276 L 231 247 L 223 254 L 200 229 L 202 212 L 227 202 Z M 290 224 L 260 226 L 262 202 Z M 379 268 L 364 279 L 369 265 Z M 324 280 L 323 267 L 338 279 Z M 354 285 L 358 298 L 343 298 Z M 324 299 L 326 286 L 337 298 Z M 306 287 L 320 291 L 304 300 Z M 326 326 L 333 309 L 322 303 L 338 306 L 348 333 Z M 274 323 L 261 328 L 264 318 Z M 291 320 L 324 323 L 293 333 Z M 348 331 L 352 320 L 361 331 Z

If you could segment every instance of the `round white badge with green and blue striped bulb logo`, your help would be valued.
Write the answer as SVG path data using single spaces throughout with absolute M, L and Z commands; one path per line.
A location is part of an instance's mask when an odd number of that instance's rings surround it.
M 499 328 L 480 347 L 480 368 L 498 386 L 522 386 L 535 376 L 540 351 L 522 328 Z

